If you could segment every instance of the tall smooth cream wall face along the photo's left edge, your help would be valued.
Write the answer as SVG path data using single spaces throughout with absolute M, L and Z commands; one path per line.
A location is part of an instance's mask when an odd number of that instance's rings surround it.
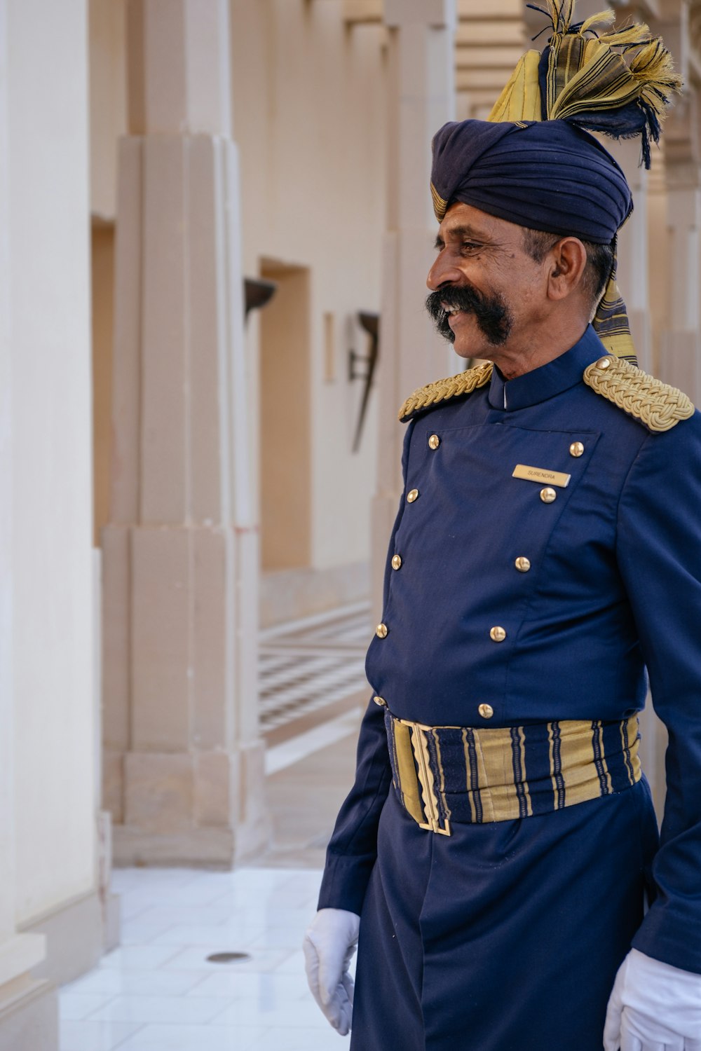
M 86 9 L 7 8 L 18 924 L 95 885 Z

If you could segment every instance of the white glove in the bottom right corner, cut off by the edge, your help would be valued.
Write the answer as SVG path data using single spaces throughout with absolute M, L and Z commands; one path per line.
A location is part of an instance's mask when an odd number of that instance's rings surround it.
M 618 968 L 604 1051 L 701 1051 L 701 974 L 631 949 Z

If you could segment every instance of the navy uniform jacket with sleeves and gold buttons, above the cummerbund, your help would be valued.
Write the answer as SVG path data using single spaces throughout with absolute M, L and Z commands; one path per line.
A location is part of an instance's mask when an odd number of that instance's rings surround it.
M 550 364 L 510 382 L 495 369 L 409 423 L 368 681 L 399 718 L 511 726 L 624 719 L 644 704 L 646 668 L 669 734 L 667 799 L 657 897 L 633 944 L 701 973 L 701 418 L 648 431 L 582 382 L 604 353 L 589 328 Z M 543 502 L 541 481 L 513 477 L 519 463 L 570 483 Z M 390 787 L 371 702 L 319 907 L 360 912 Z

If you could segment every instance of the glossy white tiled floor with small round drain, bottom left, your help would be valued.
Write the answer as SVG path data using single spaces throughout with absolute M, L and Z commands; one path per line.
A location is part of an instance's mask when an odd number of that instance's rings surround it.
M 304 974 L 321 873 L 118 869 L 122 946 L 60 994 L 61 1051 L 344 1051 Z M 213 952 L 245 952 L 228 964 Z

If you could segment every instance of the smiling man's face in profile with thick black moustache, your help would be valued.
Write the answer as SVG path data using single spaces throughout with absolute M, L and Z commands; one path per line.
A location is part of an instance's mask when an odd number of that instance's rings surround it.
M 468 204 L 452 205 L 438 228 L 427 309 L 462 357 L 527 352 L 548 316 L 547 267 L 523 248 L 523 229 Z

